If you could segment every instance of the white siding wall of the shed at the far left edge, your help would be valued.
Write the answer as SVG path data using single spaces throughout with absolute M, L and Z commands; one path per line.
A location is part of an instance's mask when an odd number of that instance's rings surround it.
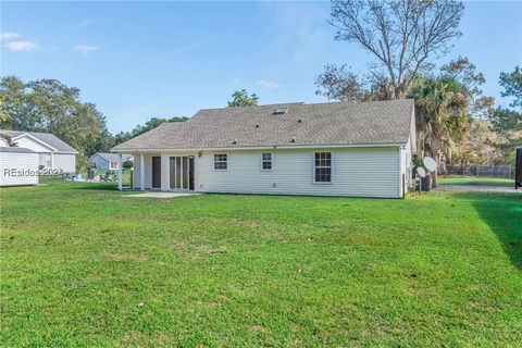
M 22 175 L 18 175 L 18 173 L 9 175 L 5 171 L 12 169 L 24 173 Z M 0 186 L 37 185 L 37 171 L 38 153 L 0 152 Z

